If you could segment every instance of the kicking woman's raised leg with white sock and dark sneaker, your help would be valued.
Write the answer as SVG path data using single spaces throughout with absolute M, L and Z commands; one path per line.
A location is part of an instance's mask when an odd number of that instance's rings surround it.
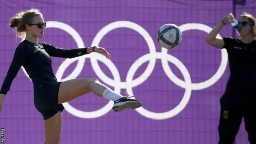
M 97 96 L 114 101 L 113 110 L 116 112 L 126 108 L 136 109 L 142 105 L 140 101 L 133 100 L 129 98 L 129 96 L 124 97 L 117 94 L 104 84 L 100 83 L 96 78 L 76 78 L 62 82 L 59 89 L 58 103 L 68 102 L 89 92 L 93 92 Z

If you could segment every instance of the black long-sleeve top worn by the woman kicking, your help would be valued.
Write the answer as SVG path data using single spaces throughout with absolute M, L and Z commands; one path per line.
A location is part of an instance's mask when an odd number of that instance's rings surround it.
M 88 54 L 87 48 L 62 49 L 44 42 L 32 43 L 24 40 L 15 50 L 0 94 L 7 94 L 21 66 L 23 66 L 28 73 L 34 87 L 41 86 L 45 82 L 57 82 L 57 78 L 52 70 L 52 60 L 50 56 L 75 58 L 84 54 Z

